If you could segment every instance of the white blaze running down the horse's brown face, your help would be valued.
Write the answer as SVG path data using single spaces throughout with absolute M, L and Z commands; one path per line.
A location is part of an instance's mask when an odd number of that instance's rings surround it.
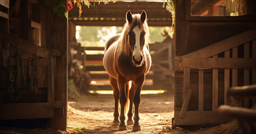
M 135 46 L 133 51 L 134 59 L 136 61 L 140 61 L 141 55 L 142 55 L 141 48 L 140 48 L 140 33 L 142 30 L 139 28 L 139 26 L 136 26 L 132 31 L 134 31 L 135 33 Z

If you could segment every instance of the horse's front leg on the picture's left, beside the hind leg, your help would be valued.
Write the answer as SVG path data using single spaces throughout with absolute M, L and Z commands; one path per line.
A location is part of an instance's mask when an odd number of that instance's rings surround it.
M 125 125 L 125 104 L 126 104 L 126 80 L 121 76 L 117 76 L 117 84 L 120 92 L 120 106 L 121 106 L 121 112 L 120 112 L 120 125 L 118 130 L 127 130 L 127 126 Z

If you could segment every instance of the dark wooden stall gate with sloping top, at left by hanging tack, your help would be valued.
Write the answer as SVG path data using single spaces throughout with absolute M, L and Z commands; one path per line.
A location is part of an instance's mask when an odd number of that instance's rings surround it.
M 60 51 L 51 52 L 4 31 L 0 31 L 0 37 L 18 47 L 19 51 L 27 51 L 40 57 L 22 58 L 18 55 L 16 58 L 11 58 L 8 52 L 3 53 L 0 66 L 7 67 L 8 71 L 1 70 L 0 88 L 8 89 L 8 92 L 1 90 L 3 96 L 0 104 L 2 109 L 0 119 L 54 117 L 54 108 L 62 106 L 62 102 L 54 102 L 54 66 L 56 66 L 54 56 L 59 56 Z M 33 79 L 36 83 L 31 85 L 33 82 L 30 75 L 33 73 L 37 78 Z M 40 99 L 29 97 L 31 94 L 37 95 Z

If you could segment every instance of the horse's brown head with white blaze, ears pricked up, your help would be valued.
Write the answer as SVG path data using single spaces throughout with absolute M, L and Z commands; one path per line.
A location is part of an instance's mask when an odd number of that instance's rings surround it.
M 126 20 L 128 23 L 127 36 L 132 53 L 132 63 L 135 66 L 141 66 L 144 61 L 143 47 L 148 45 L 147 13 L 143 11 L 141 14 L 131 15 L 131 11 L 128 11 Z

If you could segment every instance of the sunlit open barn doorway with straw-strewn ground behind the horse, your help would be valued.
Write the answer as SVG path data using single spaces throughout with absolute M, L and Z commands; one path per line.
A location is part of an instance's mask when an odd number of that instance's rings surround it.
M 82 7 L 85 11 L 81 17 L 78 17 L 78 9 L 70 11 L 69 52 L 72 59 L 69 59 L 68 83 L 70 88 L 76 85 L 76 89 L 69 90 L 68 128 L 103 133 L 118 130 L 111 126 L 115 100 L 102 64 L 104 44 L 109 37 L 121 32 L 127 11 L 141 13 L 143 9 L 148 15 L 153 64 L 141 92 L 141 133 L 171 127 L 174 40 L 172 15 L 162 6 L 162 1 L 100 4 L 89 9 Z M 132 130 L 132 126 L 127 128 L 127 132 Z

